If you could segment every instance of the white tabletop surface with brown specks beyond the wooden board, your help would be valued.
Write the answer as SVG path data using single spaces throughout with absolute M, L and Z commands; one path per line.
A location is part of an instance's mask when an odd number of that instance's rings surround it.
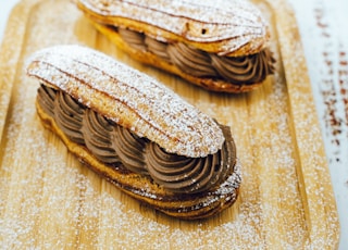
M 0 1 L 0 40 L 18 1 Z M 348 1 L 288 1 L 302 38 L 339 213 L 339 249 L 344 250 L 348 249 Z

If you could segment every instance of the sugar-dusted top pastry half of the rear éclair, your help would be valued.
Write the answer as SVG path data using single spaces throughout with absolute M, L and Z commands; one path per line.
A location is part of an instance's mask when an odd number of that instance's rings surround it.
M 260 10 L 247 0 L 78 0 L 78 5 L 101 23 L 142 29 L 158 39 L 174 34 L 221 55 L 243 47 L 244 53 L 259 52 L 270 37 Z

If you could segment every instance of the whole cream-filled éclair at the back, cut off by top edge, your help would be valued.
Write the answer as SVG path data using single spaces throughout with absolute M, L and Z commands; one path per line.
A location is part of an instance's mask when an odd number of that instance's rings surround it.
M 136 60 L 213 91 L 245 92 L 274 72 L 270 32 L 247 0 L 77 0 Z

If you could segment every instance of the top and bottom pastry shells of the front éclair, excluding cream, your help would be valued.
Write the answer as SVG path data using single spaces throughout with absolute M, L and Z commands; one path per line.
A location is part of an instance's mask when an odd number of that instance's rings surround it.
M 69 93 L 83 105 L 121 126 L 140 132 L 154 142 L 160 141 L 158 143 L 162 143 L 161 147 L 166 150 L 171 150 L 166 146 L 174 145 L 177 147 L 176 151 L 182 150 L 188 155 L 198 153 L 196 157 L 199 158 L 202 152 L 210 154 L 209 151 L 220 147 L 219 133 L 222 130 L 214 120 L 153 78 L 95 50 L 79 46 L 58 46 L 40 50 L 32 57 L 27 73 L 41 84 Z M 87 147 L 72 141 L 59 128 L 54 118 L 45 113 L 39 102 L 36 107 L 42 124 L 55 133 L 69 151 L 85 165 L 124 192 L 165 214 L 186 220 L 207 217 L 228 208 L 237 198 L 240 184 L 238 161 L 232 166 L 232 175 L 213 190 L 197 193 L 172 192 L 141 174 L 102 163 Z M 145 124 L 150 125 L 141 125 L 141 118 Z M 181 137 L 175 136 L 176 133 Z M 161 134 L 171 136 L 158 138 L 163 136 Z M 191 138 L 196 134 L 202 141 Z M 174 140 L 170 141 L 172 138 Z M 221 142 L 224 140 L 222 134 Z

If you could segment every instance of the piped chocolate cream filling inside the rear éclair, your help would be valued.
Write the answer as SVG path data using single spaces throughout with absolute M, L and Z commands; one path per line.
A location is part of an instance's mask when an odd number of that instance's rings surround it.
M 220 57 L 183 42 L 163 42 L 127 28 L 112 27 L 132 48 L 156 54 L 182 72 L 196 77 L 223 79 L 236 85 L 261 83 L 274 73 L 270 49 L 245 57 Z

